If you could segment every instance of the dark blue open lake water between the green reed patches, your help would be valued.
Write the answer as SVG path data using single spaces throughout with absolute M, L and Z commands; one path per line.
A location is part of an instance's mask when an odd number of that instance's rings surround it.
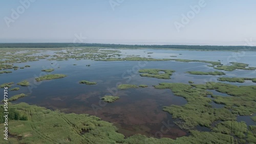
M 147 54 L 152 52 L 153 54 Z M 53 51 L 42 52 L 41 54 L 53 55 Z M 207 51 L 174 51 L 174 50 L 121 50 L 122 55 L 140 55 L 151 58 L 170 59 L 190 59 L 218 61 L 222 64 L 229 62 L 247 63 L 251 67 L 256 67 L 256 52 L 207 52 Z M 181 55 L 180 55 L 181 54 Z M 177 56 L 177 57 L 170 57 Z M 121 56 L 125 57 L 125 56 Z M 51 64 L 51 63 L 54 63 Z M 175 61 L 92 61 L 74 60 L 68 61 L 48 61 L 42 59 L 27 63 L 15 63 L 19 67 L 30 65 L 24 69 L 8 69 L 13 71 L 10 74 L 1 74 L 1 83 L 20 82 L 28 80 L 30 87 L 20 87 L 18 91 L 11 91 L 10 96 L 19 93 L 30 93 L 28 97 L 15 101 L 36 104 L 50 109 L 59 109 L 63 112 L 88 113 L 102 118 L 104 121 L 114 123 L 119 128 L 119 132 L 125 136 L 136 133 L 147 136 L 156 136 L 161 131 L 164 123 L 172 125 L 163 137 L 176 138 L 188 135 L 187 131 L 181 130 L 174 125 L 172 115 L 162 111 L 162 106 L 184 105 L 186 100 L 177 97 L 170 89 L 155 89 L 153 85 L 161 82 L 186 83 L 193 81 L 196 84 L 205 82 L 217 82 L 218 77 L 256 77 L 255 70 L 234 70 L 223 71 L 225 76 L 198 76 L 185 74 L 186 71 L 215 71 L 208 67 L 208 63 L 201 62 L 175 62 Z M 76 65 L 73 65 L 76 64 Z M 91 64 L 91 66 L 86 66 Z M 57 65 L 57 66 L 56 66 Z M 42 69 L 53 67 L 55 70 L 51 74 L 65 74 L 67 77 L 50 81 L 35 82 L 34 79 L 40 75 Z M 58 68 L 59 67 L 59 68 Z M 137 71 L 143 68 L 173 69 L 176 72 L 172 79 L 162 80 L 156 78 L 140 77 Z M 96 85 L 79 84 L 80 80 L 97 82 Z M 229 83 L 229 82 L 223 82 Z M 117 90 L 118 84 L 146 84 L 146 88 Z M 230 83 L 234 85 L 256 85 L 251 81 L 245 83 Z M 13 87 L 16 87 L 13 86 Z M 217 91 L 215 94 L 228 96 Z M 100 100 L 104 95 L 118 95 L 120 99 L 114 103 L 104 104 Z M 217 104 L 215 105 L 216 107 Z M 248 117 L 239 117 L 239 121 L 247 121 Z M 254 123 L 255 124 L 255 123 Z

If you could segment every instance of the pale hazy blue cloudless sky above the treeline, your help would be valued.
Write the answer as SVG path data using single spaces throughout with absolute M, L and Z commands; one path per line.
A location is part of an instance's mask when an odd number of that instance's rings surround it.
M 2 0 L 0 42 L 230 44 L 256 40 L 254 0 Z

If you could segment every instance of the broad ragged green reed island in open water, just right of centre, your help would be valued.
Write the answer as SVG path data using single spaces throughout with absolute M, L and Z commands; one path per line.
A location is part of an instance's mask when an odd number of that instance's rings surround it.
M 150 78 L 157 78 L 157 79 L 170 79 L 170 76 L 173 75 L 175 70 L 168 70 L 168 69 L 140 69 L 138 71 L 141 77 L 150 77 Z

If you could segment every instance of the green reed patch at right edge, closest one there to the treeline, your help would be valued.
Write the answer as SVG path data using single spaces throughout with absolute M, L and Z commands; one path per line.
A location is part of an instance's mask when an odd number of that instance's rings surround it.
M 225 71 L 233 71 L 235 69 L 244 69 L 244 70 L 255 70 L 256 67 L 248 67 L 248 64 L 245 63 L 237 63 L 237 62 L 230 62 L 231 65 L 220 65 L 214 67 L 215 69 L 225 70 Z

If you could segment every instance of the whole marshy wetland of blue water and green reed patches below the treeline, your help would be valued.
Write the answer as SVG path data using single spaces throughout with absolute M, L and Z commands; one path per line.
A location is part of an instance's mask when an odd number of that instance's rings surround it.
M 229 61 L 237 52 L 0 51 L 1 88 L 11 90 L 11 143 L 256 142 L 256 52 Z

